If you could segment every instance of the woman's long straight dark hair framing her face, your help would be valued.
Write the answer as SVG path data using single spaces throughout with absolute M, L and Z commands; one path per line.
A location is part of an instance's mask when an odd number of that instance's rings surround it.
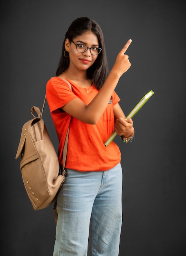
M 63 41 L 61 59 L 56 71 L 56 76 L 59 76 L 61 73 L 65 72 L 69 66 L 69 57 L 65 57 L 63 54 L 65 51 L 66 39 L 68 38 L 69 41 L 72 42 L 76 36 L 80 36 L 86 31 L 92 31 L 97 36 L 99 47 L 102 48 L 102 51 L 98 54 L 94 64 L 87 69 L 87 77 L 92 79 L 96 88 L 100 89 L 108 76 L 108 61 L 105 51 L 104 37 L 101 27 L 98 25 L 98 23 L 94 20 L 90 20 L 87 17 L 77 18 L 69 26 Z

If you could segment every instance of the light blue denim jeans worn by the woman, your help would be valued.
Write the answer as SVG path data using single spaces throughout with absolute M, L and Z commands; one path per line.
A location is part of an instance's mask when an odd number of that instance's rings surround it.
M 121 164 L 98 172 L 67 169 L 57 198 L 53 256 L 118 256 L 121 193 Z

